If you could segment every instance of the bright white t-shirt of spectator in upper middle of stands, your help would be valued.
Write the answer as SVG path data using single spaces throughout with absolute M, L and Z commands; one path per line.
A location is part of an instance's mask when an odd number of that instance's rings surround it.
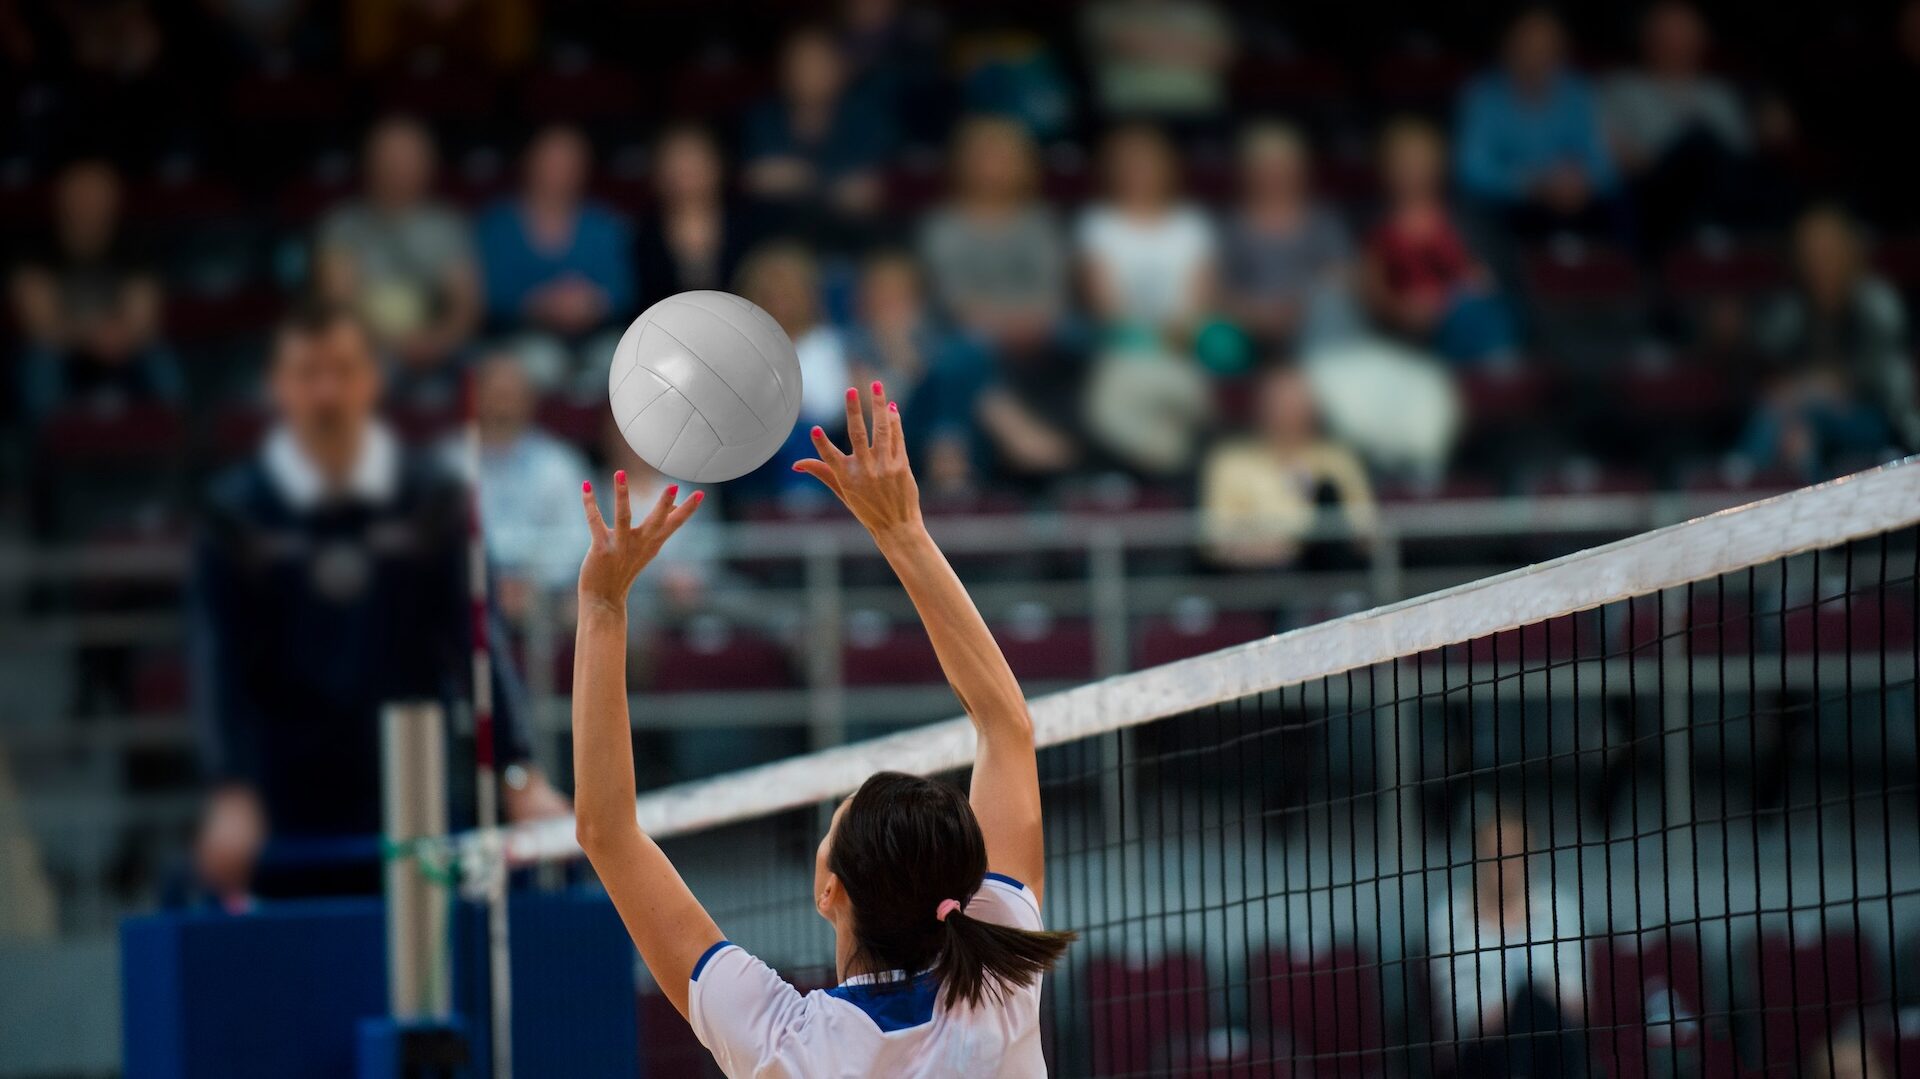
M 1160 328 L 1196 313 L 1219 238 L 1208 215 L 1192 205 L 1152 221 L 1096 205 L 1081 217 L 1077 244 L 1114 290 L 1121 317 Z

